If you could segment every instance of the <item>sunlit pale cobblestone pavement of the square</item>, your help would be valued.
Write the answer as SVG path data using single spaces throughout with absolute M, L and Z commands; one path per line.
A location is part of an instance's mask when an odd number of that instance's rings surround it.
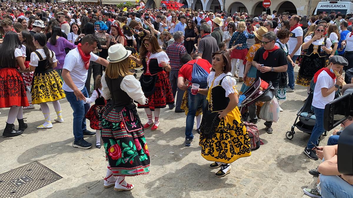
M 298 68 L 295 71 L 297 73 Z M 238 83 L 237 89 L 240 87 Z M 95 137 L 85 138 L 93 144 L 91 149 L 72 147 L 73 117 L 66 99 L 60 100 L 64 123 L 54 123 L 55 111 L 49 104 L 52 129 L 35 128 L 43 123 L 39 105 L 23 111 L 28 123 L 24 134 L 0 137 L 0 173 L 37 160 L 63 177 L 25 197 L 306 197 L 302 189 L 313 187 L 316 182 L 308 170 L 316 168 L 320 162 L 303 154 L 308 134 L 296 129 L 293 140 L 285 136 L 305 98 L 306 89 L 302 86 L 296 85 L 295 92 L 287 93 L 287 100 L 280 102 L 284 111 L 280 113 L 280 120 L 273 124 L 273 134 L 266 133 L 264 121 L 260 120 L 257 126 L 264 145 L 250 157 L 233 162 L 231 174 L 224 178 L 216 178 L 217 170 L 210 169 L 211 162 L 200 155 L 196 131 L 192 145 L 184 146 L 185 114 L 165 108 L 161 110 L 160 128 L 145 130 L 151 157 L 150 174 L 126 178 L 135 185 L 129 192 L 103 188 L 107 167 L 104 149 L 94 147 Z M 8 109 L 0 109 L 0 112 L 2 132 Z M 144 111 L 139 109 L 138 112 L 145 123 Z M 17 121 L 15 124 L 17 128 Z M 324 137 L 320 145 L 325 145 L 327 139 Z

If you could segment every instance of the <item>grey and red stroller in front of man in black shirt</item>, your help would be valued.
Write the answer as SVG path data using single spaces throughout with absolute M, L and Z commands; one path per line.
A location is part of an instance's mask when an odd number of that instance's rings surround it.
M 265 89 L 263 89 L 263 87 Z M 242 116 L 243 121 L 247 121 L 249 114 L 245 112 L 247 109 L 246 107 L 250 106 L 257 101 L 270 101 L 274 96 L 274 88 L 272 87 L 272 83 L 267 83 L 261 78 L 258 78 L 252 85 L 247 89 L 240 98 L 245 95 L 245 99 L 239 101 L 238 108 L 240 114 Z

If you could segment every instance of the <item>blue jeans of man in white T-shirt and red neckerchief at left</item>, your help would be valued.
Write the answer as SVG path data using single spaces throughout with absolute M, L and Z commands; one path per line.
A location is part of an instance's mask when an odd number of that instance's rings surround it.
M 81 90 L 82 94 L 88 98 L 88 92 L 86 87 Z M 70 103 L 70 106 L 73 110 L 73 136 L 75 141 L 78 141 L 83 138 L 83 132 L 86 131 L 86 118 L 85 115 L 88 112 L 90 105 L 83 104 L 83 100 L 77 100 L 76 95 L 73 92 L 65 91 L 66 99 Z

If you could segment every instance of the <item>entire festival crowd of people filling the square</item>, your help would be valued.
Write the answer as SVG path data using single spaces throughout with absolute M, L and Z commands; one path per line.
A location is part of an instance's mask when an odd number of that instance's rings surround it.
M 264 105 L 248 106 L 249 120 L 244 120 L 240 95 L 261 78 L 271 83 L 277 100 L 286 100 L 297 84 L 314 94 L 316 124 L 304 153 L 313 160 L 325 159 L 310 171 L 321 173 L 318 188 L 305 188 L 304 193 L 352 197 L 351 176 L 338 177 L 339 131 L 329 138 L 331 146 L 312 144 L 324 132 L 325 104 L 334 100 L 343 83 L 353 83 L 351 15 L 331 12 L 307 18 L 273 11 L 251 17 L 185 8 L 124 11 L 22 2 L 2 3 L 0 9 L 0 108 L 10 107 L 3 136 L 23 134 L 28 127 L 23 110 L 35 104 L 44 117 L 37 129 L 53 128 L 48 102 L 57 115 L 54 121 L 63 123 L 59 101 L 66 98 L 73 110 L 73 147 L 89 149 L 92 144 L 84 137 L 95 136 L 96 148 L 103 143 L 108 161 L 104 187 L 132 190 L 125 177 L 149 173 L 144 131 L 158 130 L 160 111 L 168 105 L 186 115 L 185 146 L 193 141 L 196 119 L 201 155 L 213 162 L 210 168 L 220 168 L 216 177 L 224 177 L 232 162 L 251 155 L 244 122 L 257 124 Z M 239 92 L 237 81 L 243 82 Z M 136 107 L 144 109 L 147 123 L 141 123 Z M 88 130 L 86 119 L 95 132 Z M 272 134 L 273 120 L 264 121 Z M 342 124 L 351 123 L 349 117 Z M 337 189 L 346 194 L 337 196 Z

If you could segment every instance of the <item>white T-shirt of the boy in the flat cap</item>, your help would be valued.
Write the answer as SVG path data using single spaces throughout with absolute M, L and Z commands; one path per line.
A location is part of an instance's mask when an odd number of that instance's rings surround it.
M 321 93 L 321 88 L 329 89 L 333 87 L 335 83 L 335 79 L 332 79 L 326 71 L 322 71 L 317 77 L 314 89 L 314 97 L 312 99 L 312 106 L 319 109 L 325 109 L 325 105 L 335 99 L 335 92 L 332 92 L 327 97 L 323 97 Z

